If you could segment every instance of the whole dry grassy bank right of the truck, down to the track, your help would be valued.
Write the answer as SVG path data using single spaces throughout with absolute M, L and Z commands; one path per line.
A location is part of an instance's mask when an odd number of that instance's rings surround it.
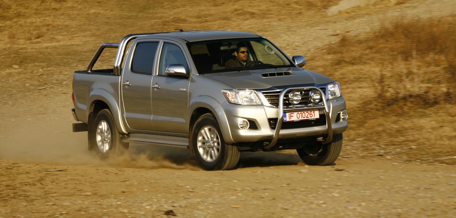
M 323 67 L 342 78 L 346 135 L 358 139 L 345 151 L 456 164 L 455 43 L 456 16 L 447 16 L 400 18 L 328 47 Z

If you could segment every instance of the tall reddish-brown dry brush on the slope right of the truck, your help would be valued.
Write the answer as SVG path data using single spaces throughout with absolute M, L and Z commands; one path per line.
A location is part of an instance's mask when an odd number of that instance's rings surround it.
M 336 53 L 337 67 L 374 64 L 380 69 L 368 78 L 377 89 L 377 108 L 455 103 L 456 16 L 401 18 L 368 36 L 344 36 L 329 51 Z

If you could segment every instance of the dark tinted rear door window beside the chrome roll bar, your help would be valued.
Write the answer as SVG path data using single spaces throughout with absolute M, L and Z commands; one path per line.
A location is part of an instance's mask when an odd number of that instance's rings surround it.
M 158 42 L 141 42 L 136 45 L 131 71 L 152 74 Z

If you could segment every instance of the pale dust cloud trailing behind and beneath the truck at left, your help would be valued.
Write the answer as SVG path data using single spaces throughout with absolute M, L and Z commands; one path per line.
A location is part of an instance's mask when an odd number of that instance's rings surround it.
M 200 170 L 188 150 L 161 146 L 130 144 L 127 155 L 102 161 L 95 152 L 88 151 L 87 132 L 73 133 L 71 122 L 47 121 L 45 126 L 16 122 L 16 127 L 1 134 L 0 160 Z

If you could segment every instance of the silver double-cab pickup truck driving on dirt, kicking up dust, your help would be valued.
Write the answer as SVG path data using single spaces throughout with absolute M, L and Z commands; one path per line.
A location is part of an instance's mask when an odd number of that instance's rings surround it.
M 117 49 L 114 67 L 93 69 L 105 48 Z M 131 34 L 74 72 L 73 131 L 88 131 L 103 159 L 141 143 L 187 148 L 206 170 L 233 169 L 241 151 L 296 149 L 308 165 L 332 164 L 345 99 L 305 63 L 249 32 Z

